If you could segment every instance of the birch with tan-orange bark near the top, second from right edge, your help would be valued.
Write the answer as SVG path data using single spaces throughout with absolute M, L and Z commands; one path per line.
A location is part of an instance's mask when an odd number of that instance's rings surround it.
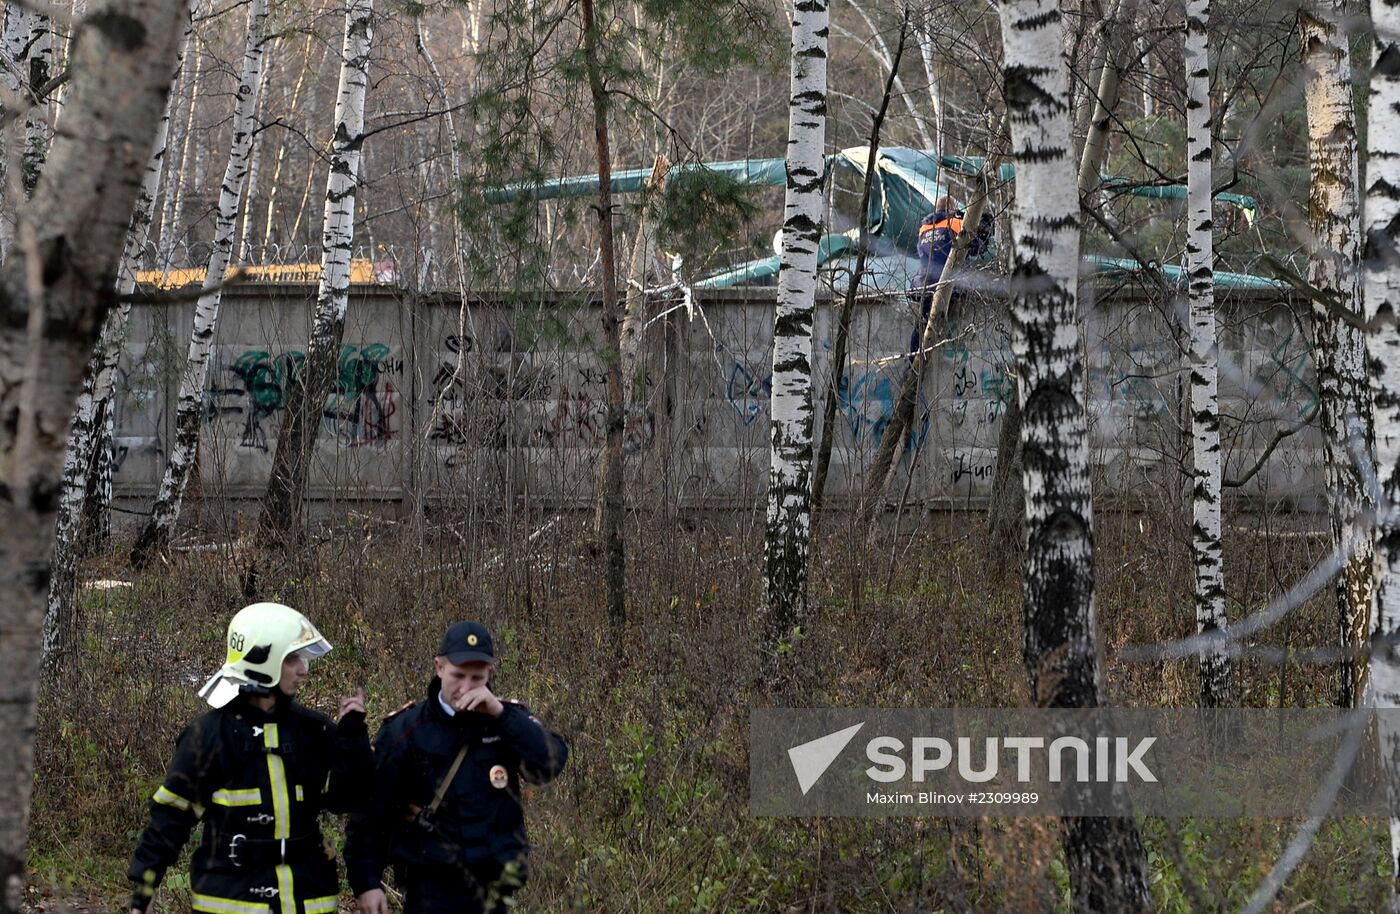
M 1344 0 L 1313 0 L 1298 11 L 1303 69 L 1308 76 L 1308 162 L 1312 171 L 1309 223 L 1316 241 L 1308 280 L 1331 302 L 1313 302 L 1313 367 L 1317 372 L 1322 427 L 1326 440 L 1329 518 L 1333 547 L 1350 556 L 1337 579 L 1338 644 L 1337 704 L 1352 707 L 1361 696 L 1365 662 L 1355 654 L 1366 640 L 1371 617 L 1372 564 L 1369 535 L 1358 522 L 1373 505 L 1351 452 L 1348 423 L 1366 435 L 1371 452 L 1371 392 L 1366 382 L 1366 340 L 1361 329 L 1338 316 L 1361 302 L 1361 207 L 1358 204 L 1357 115 L 1351 99 L 1351 53 L 1340 24 Z

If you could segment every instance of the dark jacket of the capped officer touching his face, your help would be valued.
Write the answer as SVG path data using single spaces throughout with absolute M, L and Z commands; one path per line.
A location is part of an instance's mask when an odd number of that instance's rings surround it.
M 350 816 L 346 875 L 356 896 L 379 887 L 384 868 L 396 865 L 524 864 L 525 810 L 521 782 L 543 784 L 564 768 L 568 746 L 529 708 L 503 701 L 497 718 L 473 711 L 448 715 L 438 703 L 441 680 L 424 701 L 393 714 L 374 738 L 372 812 Z M 458 750 L 462 766 L 431 816 L 427 809 Z

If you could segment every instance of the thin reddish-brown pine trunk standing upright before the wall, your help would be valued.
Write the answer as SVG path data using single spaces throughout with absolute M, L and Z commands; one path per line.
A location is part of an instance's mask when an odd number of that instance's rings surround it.
M 627 553 L 623 543 L 622 437 L 626 398 L 622 382 L 622 308 L 617 300 L 617 258 L 613 253 L 612 148 L 608 140 L 608 90 L 599 60 L 592 0 L 580 0 L 584 14 L 584 66 L 594 101 L 594 151 L 598 157 L 598 255 L 603 274 L 603 346 L 608 360 L 608 434 L 598 474 L 599 536 L 608 567 L 608 619 L 615 634 L 627 623 Z

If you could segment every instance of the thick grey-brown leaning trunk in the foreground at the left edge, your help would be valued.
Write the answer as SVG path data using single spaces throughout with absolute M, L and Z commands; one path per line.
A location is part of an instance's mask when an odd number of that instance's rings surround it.
M 66 129 L 0 270 L 0 914 L 20 911 L 49 547 L 69 419 L 165 104 L 179 0 L 92 0 Z M 42 265 L 42 269 L 41 269 Z

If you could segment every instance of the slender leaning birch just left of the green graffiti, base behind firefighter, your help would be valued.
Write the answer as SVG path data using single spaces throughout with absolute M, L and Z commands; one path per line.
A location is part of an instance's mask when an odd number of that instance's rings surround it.
M 263 29 L 267 20 L 267 0 L 253 0 L 248 11 L 248 42 L 244 49 L 242 71 L 238 80 L 238 99 L 234 102 L 232 136 L 228 143 L 228 167 L 218 192 L 218 214 L 214 221 L 214 245 L 204 272 L 203 293 L 195 304 L 195 328 L 190 333 L 189 354 L 181 377 L 179 402 L 175 409 L 175 441 L 171 445 L 165 474 L 151 508 L 151 516 L 132 549 L 132 564 L 144 568 L 151 557 L 169 543 L 179 519 L 185 484 L 195 463 L 199 427 L 204 413 L 204 381 L 209 377 L 209 351 L 214 343 L 218 304 L 223 297 L 224 274 L 234 251 L 234 225 L 242 199 L 244 179 L 248 176 L 248 155 L 253 140 L 253 109 L 258 105 L 258 83 L 263 59 Z

